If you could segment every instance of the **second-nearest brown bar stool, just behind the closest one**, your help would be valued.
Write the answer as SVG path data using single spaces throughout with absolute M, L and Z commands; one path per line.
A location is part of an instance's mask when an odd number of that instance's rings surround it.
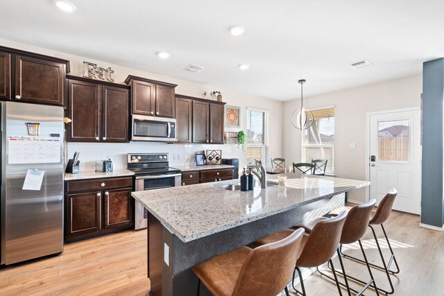
M 291 280 L 291 285 L 293 289 L 296 290 L 297 293 L 301 295 L 307 295 L 305 293 L 304 280 L 302 279 L 302 272 L 300 272 L 300 268 L 314 268 L 319 265 L 322 265 L 326 262 L 330 262 L 333 266 L 332 256 L 334 252 L 336 252 L 339 240 L 341 238 L 342 227 L 345 222 L 345 218 L 347 217 L 347 212 L 343 211 L 339 216 L 334 218 L 320 220 L 316 225 L 314 225 L 311 232 L 307 235 L 304 235 L 302 239 L 301 247 L 299 249 L 298 259 L 296 260 L 296 266 L 293 270 L 293 277 Z M 300 228 L 303 229 L 303 228 Z M 297 229 L 296 231 L 300 231 Z M 282 236 L 289 235 L 289 233 L 293 232 L 293 229 L 284 229 L 280 232 L 276 232 L 274 234 L 270 234 L 259 240 L 255 241 L 254 245 L 265 245 L 266 243 L 271 243 L 275 241 L 275 239 L 280 238 Z M 298 271 L 300 286 L 302 288 L 302 292 L 297 290 L 294 286 L 294 279 L 296 275 L 296 270 Z M 336 287 L 338 288 L 339 295 L 342 295 L 341 287 L 339 286 L 339 281 L 336 277 L 336 272 L 333 275 L 336 279 Z

